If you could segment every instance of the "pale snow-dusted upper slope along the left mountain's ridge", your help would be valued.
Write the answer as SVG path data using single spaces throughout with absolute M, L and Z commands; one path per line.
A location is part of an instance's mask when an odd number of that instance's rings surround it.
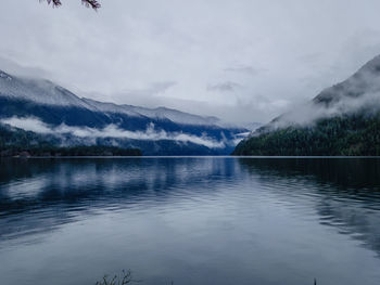
M 54 85 L 49 80 L 11 76 L 1 70 L 0 96 L 13 100 L 31 101 L 36 104 L 42 105 L 75 106 L 91 112 L 125 114 L 131 117 L 148 117 L 153 120 L 167 119 L 180 125 L 238 128 L 237 126 L 226 124 L 216 117 L 203 117 L 166 107 L 145 108 L 126 104 L 118 105 L 110 102 L 99 102 L 87 98 L 80 99 L 67 89 Z

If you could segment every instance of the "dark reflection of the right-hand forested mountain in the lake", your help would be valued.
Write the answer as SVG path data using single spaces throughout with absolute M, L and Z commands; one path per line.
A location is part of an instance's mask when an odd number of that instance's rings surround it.
M 380 159 L 239 159 L 281 195 L 317 197 L 320 223 L 339 229 L 380 255 Z M 303 185 L 300 187 L 300 185 Z

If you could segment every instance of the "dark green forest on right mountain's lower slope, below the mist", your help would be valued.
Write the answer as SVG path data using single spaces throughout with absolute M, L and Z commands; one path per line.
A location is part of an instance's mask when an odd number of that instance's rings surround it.
M 380 156 L 380 116 L 362 113 L 278 129 L 242 141 L 232 155 Z

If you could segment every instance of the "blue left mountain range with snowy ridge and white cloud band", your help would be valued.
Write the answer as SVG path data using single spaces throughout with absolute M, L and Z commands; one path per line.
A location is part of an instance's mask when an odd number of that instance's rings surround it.
M 143 155 L 228 154 L 248 131 L 216 117 L 78 98 L 49 80 L 1 70 L 0 124 L 59 146 L 110 145 Z

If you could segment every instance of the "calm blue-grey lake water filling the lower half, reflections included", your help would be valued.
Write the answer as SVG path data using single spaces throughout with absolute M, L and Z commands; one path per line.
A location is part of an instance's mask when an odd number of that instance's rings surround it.
M 0 167 L 0 284 L 380 284 L 380 159 Z

